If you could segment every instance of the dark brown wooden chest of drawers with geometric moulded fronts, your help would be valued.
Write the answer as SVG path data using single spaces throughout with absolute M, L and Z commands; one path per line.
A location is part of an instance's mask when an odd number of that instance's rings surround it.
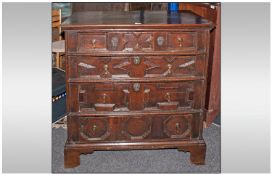
M 209 32 L 191 12 L 75 13 L 66 40 L 65 167 L 96 150 L 177 148 L 204 164 Z

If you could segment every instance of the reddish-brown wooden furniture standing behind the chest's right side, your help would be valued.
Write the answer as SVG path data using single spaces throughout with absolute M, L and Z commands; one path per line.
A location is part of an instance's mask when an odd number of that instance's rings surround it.
M 191 10 L 215 24 L 211 31 L 205 123 L 208 127 L 220 115 L 221 5 L 220 3 L 180 3 L 179 10 Z

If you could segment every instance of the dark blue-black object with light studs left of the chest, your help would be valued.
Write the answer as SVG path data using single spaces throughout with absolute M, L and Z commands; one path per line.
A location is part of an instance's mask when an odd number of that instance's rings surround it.
M 66 113 L 65 72 L 52 68 L 52 122 L 56 122 Z

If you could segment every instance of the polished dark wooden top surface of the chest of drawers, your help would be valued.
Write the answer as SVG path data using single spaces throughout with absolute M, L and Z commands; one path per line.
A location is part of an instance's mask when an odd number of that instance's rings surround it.
M 191 11 L 91 11 L 66 19 L 63 30 L 91 28 L 211 28 L 212 22 Z

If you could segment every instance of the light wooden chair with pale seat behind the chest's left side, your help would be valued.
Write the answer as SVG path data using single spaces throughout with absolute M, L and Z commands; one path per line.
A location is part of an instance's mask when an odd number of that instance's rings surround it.
M 52 42 L 52 52 L 55 54 L 56 67 L 62 69 L 62 55 L 65 53 L 65 41 L 61 36 L 61 9 L 52 10 L 52 28 L 58 29 L 58 40 Z

